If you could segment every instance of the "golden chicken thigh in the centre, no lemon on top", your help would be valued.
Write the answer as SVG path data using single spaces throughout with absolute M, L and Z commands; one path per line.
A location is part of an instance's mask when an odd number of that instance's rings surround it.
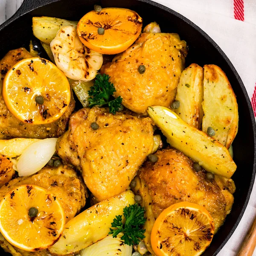
M 93 122 L 99 125 L 97 130 L 91 127 Z M 125 191 L 152 148 L 150 118 L 113 115 L 97 107 L 74 113 L 56 145 L 58 155 L 82 171 L 98 201 Z

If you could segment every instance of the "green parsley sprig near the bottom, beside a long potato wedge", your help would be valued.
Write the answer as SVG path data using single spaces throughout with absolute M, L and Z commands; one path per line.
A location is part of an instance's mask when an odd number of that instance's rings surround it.
M 129 205 L 129 207 L 126 206 L 123 212 L 125 216 L 124 224 L 122 221 L 122 215 L 116 216 L 111 223 L 111 227 L 115 227 L 116 229 L 110 228 L 111 232 L 109 232 L 109 234 L 113 234 L 113 238 L 115 238 L 122 232 L 123 236 L 121 239 L 125 244 L 139 244 L 140 240 L 145 237 L 143 234 L 146 231 L 141 228 L 146 221 L 144 213 L 145 209 L 139 204 Z

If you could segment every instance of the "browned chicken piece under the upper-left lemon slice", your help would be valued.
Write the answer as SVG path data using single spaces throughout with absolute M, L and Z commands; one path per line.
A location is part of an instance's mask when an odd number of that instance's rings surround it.
M 30 58 L 32 55 L 25 49 L 19 48 L 9 51 L 0 61 L 0 140 L 11 138 L 37 138 L 45 139 L 59 137 L 66 131 L 69 116 L 75 108 L 75 101 L 71 96 L 67 111 L 56 122 L 46 125 L 31 125 L 20 122 L 10 113 L 2 96 L 2 81 L 8 70 L 23 58 Z

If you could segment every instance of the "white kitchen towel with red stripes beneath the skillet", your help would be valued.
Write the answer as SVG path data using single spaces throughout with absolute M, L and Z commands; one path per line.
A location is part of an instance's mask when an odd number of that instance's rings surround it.
M 221 47 L 241 76 L 256 116 L 256 0 L 154 1 L 187 17 Z M 0 22 L 9 18 L 21 2 L 0 0 Z M 255 216 L 256 185 L 239 226 L 218 256 L 236 255 Z

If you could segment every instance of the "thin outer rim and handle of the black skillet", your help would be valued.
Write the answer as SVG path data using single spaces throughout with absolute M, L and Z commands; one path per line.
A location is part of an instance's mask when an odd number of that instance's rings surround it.
M 54 2 L 59 2 L 61 0 L 24 0 L 22 5 L 20 6 L 20 9 L 17 10 L 17 12 L 10 17 L 8 20 L 6 20 L 6 22 L 4 22 L 1 26 L 0 26 L 0 33 L 1 31 L 7 27 L 10 23 L 12 23 L 14 20 L 16 20 L 17 18 L 19 18 L 20 16 L 25 15 L 28 12 L 31 12 L 39 7 L 42 6 L 46 6 L 50 3 L 54 3 Z M 207 41 L 209 41 L 210 44 L 212 44 L 212 46 L 219 52 L 219 54 L 224 58 L 224 60 L 227 62 L 228 66 L 230 67 L 230 69 L 232 70 L 232 72 L 234 73 L 237 81 L 239 82 L 239 85 L 242 89 L 242 92 L 245 96 L 246 99 L 246 103 L 250 112 L 250 122 L 253 126 L 253 141 L 254 141 L 254 145 L 256 145 L 256 123 L 255 123 L 255 118 L 254 118 L 254 114 L 253 114 L 253 108 L 251 106 L 250 103 L 250 98 L 247 94 L 247 91 L 244 87 L 244 84 L 239 76 L 239 74 L 237 73 L 235 67 L 233 66 L 233 64 L 231 63 L 230 59 L 227 57 L 227 55 L 221 50 L 221 48 L 218 46 L 218 44 L 215 43 L 215 41 L 212 40 L 212 38 L 209 37 L 209 35 L 207 35 L 206 32 L 204 32 L 201 28 L 199 28 L 197 25 L 195 25 L 195 23 L 193 23 L 191 20 L 187 19 L 186 17 L 184 17 L 183 15 L 180 15 L 179 13 L 175 12 L 174 10 L 161 5 L 160 3 L 156 3 L 153 2 L 151 0 L 137 0 L 138 2 L 142 2 L 142 3 L 148 3 L 151 6 L 155 6 L 156 8 L 162 9 L 164 11 L 169 12 L 172 15 L 175 15 L 176 17 L 180 18 L 181 20 L 183 20 L 184 22 L 188 23 L 190 26 L 192 26 L 195 30 L 197 30 L 202 36 L 204 36 L 204 38 L 207 39 Z M 250 195 L 253 189 L 253 184 L 254 184 L 254 180 L 255 180 L 255 175 L 256 175 L 256 151 L 254 151 L 254 157 L 253 157 L 253 173 L 252 173 L 252 179 L 250 182 L 250 186 L 248 189 L 248 193 L 247 193 L 247 197 L 246 200 L 244 202 L 243 208 L 241 209 L 241 212 L 236 220 L 235 225 L 233 226 L 233 228 L 230 230 L 230 233 L 227 235 L 227 237 L 224 239 L 224 241 L 221 243 L 221 245 L 218 247 L 218 249 L 215 251 L 214 255 L 217 255 L 220 250 L 224 247 L 224 245 L 227 243 L 227 241 L 230 239 L 230 237 L 232 236 L 232 234 L 234 233 L 234 231 L 236 230 L 239 222 L 241 221 L 241 218 L 244 215 L 245 209 L 247 207 L 247 204 L 249 202 L 250 199 Z

